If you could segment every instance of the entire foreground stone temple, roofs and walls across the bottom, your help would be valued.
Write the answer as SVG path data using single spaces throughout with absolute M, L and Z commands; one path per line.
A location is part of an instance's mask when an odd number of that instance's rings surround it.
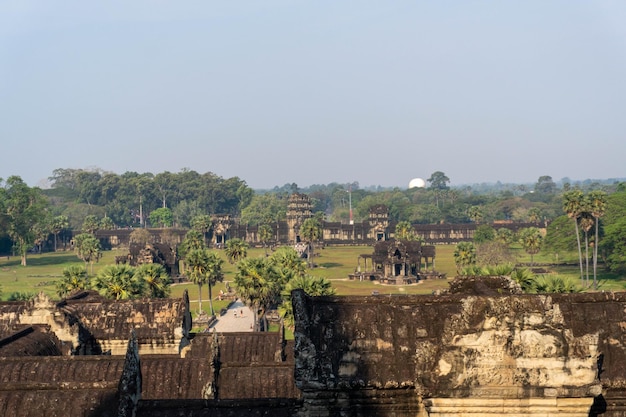
M 626 416 L 626 293 L 292 294 L 283 333 L 189 300 L 0 303 L 2 416 Z

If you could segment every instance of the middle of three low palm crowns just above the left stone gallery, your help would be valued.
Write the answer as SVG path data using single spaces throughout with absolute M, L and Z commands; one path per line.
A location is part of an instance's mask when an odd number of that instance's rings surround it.
M 104 267 L 92 284 L 102 295 L 115 300 L 128 300 L 143 294 L 143 282 L 135 277 L 135 268 L 129 265 Z

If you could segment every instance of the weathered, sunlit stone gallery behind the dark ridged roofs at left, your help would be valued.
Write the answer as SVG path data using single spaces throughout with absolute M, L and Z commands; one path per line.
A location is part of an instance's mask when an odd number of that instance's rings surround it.
M 20 326 L 39 326 L 54 335 L 63 354 L 123 355 L 134 331 L 140 353 L 177 354 L 187 310 L 185 298 L 114 301 L 79 294 L 57 303 L 40 293 L 29 302 L 0 303 L 0 338 L 14 337 Z

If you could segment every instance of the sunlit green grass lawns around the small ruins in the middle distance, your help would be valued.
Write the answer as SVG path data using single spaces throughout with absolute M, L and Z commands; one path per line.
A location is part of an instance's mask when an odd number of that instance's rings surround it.
M 519 248 L 513 248 L 517 253 L 520 262 L 530 262 L 529 255 L 525 254 Z M 381 285 L 376 282 L 359 282 L 348 279 L 348 274 L 353 273 L 357 268 L 357 259 L 360 254 L 371 254 L 371 247 L 367 246 L 332 246 L 326 248 L 317 248 L 315 256 L 316 268 L 311 271 L 312 275 L 328 278 L 332 281 L 338 295 L 370 295 L 372 291 L 379 294 L 430 294 L 437 289 L 448 287 L 448 282 L 456 275 L 454 265 L 454 246 L 441 245 L 437 246 L 436 269 L 445 273 L 448 279 L 427 280 L 418 284 L 411 285 Z M 219 251 L 220 255 L 226 257 L 223 251 Z M 103 253 L 100 262 L 94 264 L 93 274 L 106 265 L 114 263 L 116 255 L 120 252 L 113 250 Z M 250 249 L 248 256 L 264 256 L 263 249 Z M 554 263 L 555 256 L 550 254 L 535 255 L 536 263 Z M 550 267 L 551 273 L 558 273 L 562 276 L 570 276 L 579 278 L 579 268 L 577 266 L 576 254 L 561 254 L 559 256 L 560 265 Z M 28 265 L 23 267 L 20 265 L 19 257 L 11 257 L 10 259 L 0 259 L 0 286 L 2 288 L 2 299 L 6 300 L 13 292 L 37 293 L 45 292 L 53 299 L 58 298 L 55 292 L 55 280 L 61 277 L 63 268 L 71 264 L 82 265 L 73 252 L 57 252 L 46 253 L 43 255 L 29 255 Z M 361 263 L 363 267 L 363 263 Z M 369 264 L 368 264 L 369 267 Z M 599 272 L 601 268 L 599 268 Z M 232 282 L 236 272 L 235 266 L 227 261 L 224 263 L 224 283 L 219 283 L 213 289 L 213 296 L 219 294 L 220 290 L 225 290 L 225 283 Z M 623 276 L 599 273 L 602 282 L 601 290 L 622 291 L 626 288 L 626 279 Z M 172 286 L 172 297 L 180 297 L 184 290 L 189 291 L 192 302 L 198 300 L 198 287 L 193 284 L 178 284 Z M 202 289 L 203 309 L 208 310 L 208 290 L 204 286 Z M 227 305 L 227 301 L 214 300 L 214 309 Z

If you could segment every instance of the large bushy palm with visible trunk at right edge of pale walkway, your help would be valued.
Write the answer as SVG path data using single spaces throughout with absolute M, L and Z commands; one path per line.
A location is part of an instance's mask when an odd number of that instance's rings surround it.
M 234 279 L 239 298 L 246 303 L 254 314 L 254 330 L 260 330 L 260 322 L 264 322 L 267 330 L 265 313 L 275 304 L 280 296 L 282 286 L 280 274 L 268 258 L 245 258 L 237 263 Z

